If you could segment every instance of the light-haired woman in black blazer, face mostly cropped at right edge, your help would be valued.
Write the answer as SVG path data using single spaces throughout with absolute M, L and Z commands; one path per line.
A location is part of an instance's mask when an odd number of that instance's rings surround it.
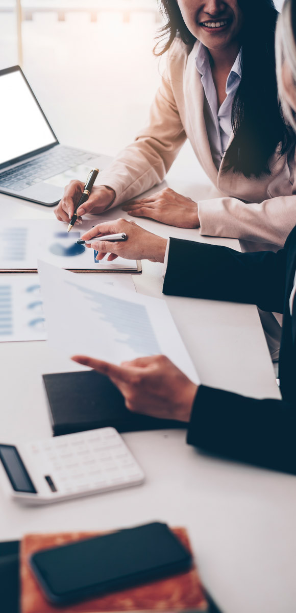
M 284 3 L 277 45 L 279 57 L 284 57 L 283 67 L 278 66 L 279 89 L 296 131 L 296 0 Z M 188 422 L 187 441 L 202 451 L 296 474 L 296 226 L 278 253 L 237 253 L 176 238 L 167 245 L 165 239 L 124 220 L 107 226 L 99 224 L 89 234 L 126 230 L 129 240 L 101 245 L 100 257 L 112 245 L 114 257 L 167 261 L 164 294 L 252 303 L 264 311 L 283 313 L 279 355 L 283 400 L 255 400 L 197 387 L 164 356 L 120 367 L 85 356 L 74 359 L 108 375 L 132 411 Z M 187 274 L 181 264 L 184 259 L 192 262 Z

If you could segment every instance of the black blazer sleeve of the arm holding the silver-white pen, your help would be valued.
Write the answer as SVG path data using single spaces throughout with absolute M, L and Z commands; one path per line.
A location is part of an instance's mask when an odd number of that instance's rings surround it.
M 278 253 L 239 253 L 227 247 L 170 238 L 163 292 L 245 302 L 264 311 L 283 313 L 287 242 Z

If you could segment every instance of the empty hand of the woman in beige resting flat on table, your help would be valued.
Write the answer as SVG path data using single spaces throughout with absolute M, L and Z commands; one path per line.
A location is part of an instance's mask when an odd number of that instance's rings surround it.
M 197 203 L 165 188 L 141 200 L 130 200 L 123 207 L 132 217 L 148 217 L 169 226 L 197 228 L 200 226 Z

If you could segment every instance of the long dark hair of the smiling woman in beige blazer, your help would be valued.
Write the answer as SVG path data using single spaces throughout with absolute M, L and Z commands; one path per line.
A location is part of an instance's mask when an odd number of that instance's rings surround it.
M 279 145 L 283 154 L 291 144 L 278 101 L 275 68 L 275 28 L 278 11 L 273 0 L 238 0 L 243 12 L 241 40 L 241 82 L 233 100 L 232 129 L 234 139 L 226 152 L 225 169 L 233 169 L 245 177 L 270 174 L 268 161 Z M 161 0 L 161 11 L 167 18 L 159 31 L 164 46 L 155 55 L 162 55 L 180 36 L 193 46 L 195 37 L 184 23 L 176 0 Z

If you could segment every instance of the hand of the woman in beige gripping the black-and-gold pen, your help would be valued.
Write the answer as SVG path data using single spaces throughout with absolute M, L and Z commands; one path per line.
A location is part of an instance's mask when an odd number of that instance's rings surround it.
M 66 186 L 64 196 L 55 208 L 56 218 L 59 221 L 66 221 L 69 223 L 69 219 L 73 216 L 74 209 L 82 196 L 84 188 L 85 184 L 82 183 L 82 181 L 74 180 L 70 181 L 69 185 Z M 93 213 L 93 215 L 102 213 L 112 204 L 114 199 L 114 189 L 105 185 L 93 187 L 89 199 L 77 210 L 78 219 L 81 221 L 85 213 Z

